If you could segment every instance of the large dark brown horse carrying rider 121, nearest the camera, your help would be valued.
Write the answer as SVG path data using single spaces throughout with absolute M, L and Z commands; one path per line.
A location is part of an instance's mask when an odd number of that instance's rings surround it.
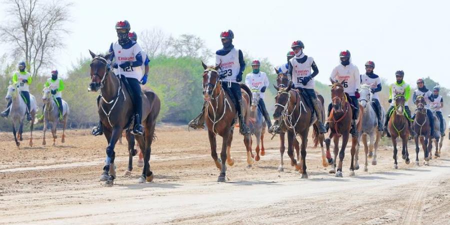
M 106 147 L 106 159 L 103 166 L 103 172 L 100 175 L 100 181 L 105 184 L 113 184 L 115 179 L 115 152 L 114 147 L 117 139 L 122 134 L 123 129 L 129 129 L 132 121 L 132 102 L 129 92 L 126 89 L 126 83 L 120 75 L 115 75 L 109 69 L 110 65 L 106 58 L 109 58 L 112 52 L 106 55 L 96 55 L 89 50 L 92 60 L 90 63 L 90 77 L 88 90 L 96 92 L 100 90 L 101 99 L 98 106 L 98 115 L 103 126 L 103 133 L 108 142 Z M 137 179 L 137 183 L 151 182 L 154 173 L 150 170 L 151 143 L 154 136 L 154 127 L 156 118 L 159 114 L 161 102 L 158 96 L 151 90 L 142 90 L 142 125 L 144 126 L 143 135 L 135 135 L 140 149 L 143 150 L 144 165 L 142 174 Z M 131 135 L 126 135 L 128 140 L 128 153 L 130 158 L 136 154 L 134 141 L 131 141 Z M 132 169 L 132 160 L 128 161 L 128 171 Z M 125 171 L 126 174 L 126 171 Z

